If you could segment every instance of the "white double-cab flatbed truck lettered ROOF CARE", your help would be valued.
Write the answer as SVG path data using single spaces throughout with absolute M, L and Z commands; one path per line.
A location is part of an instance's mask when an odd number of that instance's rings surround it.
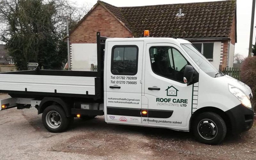
M 251 89 L 217 71 L 188 41 L 106 38 L 97 33 L 98 71 L 30 70 L 0 74 L 1 110 L 36 107 L 50 132 L 74 117 L 108 124 L 193 132 L 219 144 L 253 124 Z

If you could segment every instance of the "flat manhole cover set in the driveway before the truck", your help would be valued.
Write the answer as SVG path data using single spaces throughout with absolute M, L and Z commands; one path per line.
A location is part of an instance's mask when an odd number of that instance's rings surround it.
M 105 142 L 103 140 L 92 140 L 92 139 L 80 139 L 77 140 L 75 143 L 71 144 L 68 147 L 75 147 L 75 148 L 98 148 L 103 146 Z

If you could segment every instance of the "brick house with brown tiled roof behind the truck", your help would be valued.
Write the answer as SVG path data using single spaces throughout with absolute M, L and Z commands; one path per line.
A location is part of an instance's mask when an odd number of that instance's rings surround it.
M 233 67 L 236 1 L 116 7 L 98 1 L 70 32 L 73 70 L 97 64 L 96 32 L 106 37 L 177 37 L 189 40 L 217 69 Z M 86 52 L 95 51 L 95 52 Z

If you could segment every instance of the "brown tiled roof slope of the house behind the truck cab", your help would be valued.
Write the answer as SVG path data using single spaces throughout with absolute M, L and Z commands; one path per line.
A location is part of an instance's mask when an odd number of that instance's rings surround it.
M 116 7 L 98 1 L 129 28 L 134 37 L 148 29 L 152 37 L 229 37 L 236 1 Z M 184 16 L 176 16 L 179 9 Z

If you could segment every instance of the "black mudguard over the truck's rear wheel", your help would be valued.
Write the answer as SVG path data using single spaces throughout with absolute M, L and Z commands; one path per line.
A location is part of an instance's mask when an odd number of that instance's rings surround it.
M 57 97 L 45 97 L 38 107 L 38 114 L 43 113 L 44 109 L 51 105 L 59 105 L 61 108 L 64 109 L 67 117 L 71 116 L 71 108 L 69 107 L 70 105 L 68 105 L 68 103 L 66 103 L 61 98 Z

